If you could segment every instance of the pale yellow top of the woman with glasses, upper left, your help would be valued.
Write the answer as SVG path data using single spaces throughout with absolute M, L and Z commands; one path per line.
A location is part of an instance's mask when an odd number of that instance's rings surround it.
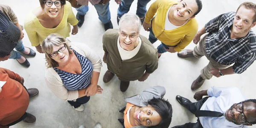
M 41 8 L 41 6 L 38 8 Z M 24 28 L 29 37 L 29 41 L 31 42 L 31 45 L 38 46 L 39 44 L 42 44 L 44 39 L 49 34 L 52 34 L 52 33 L 58 33 L 64 38 L 69 37 L 70 31 L 71 31 L 70 24 L 72 26 L 75 26 L 77 23 L 78 23 L 78 20 L 73 14 L 71 4 L 68 1 L 66 1 L 66 4 L 64 5 L 64 14 L 63 14 L 62 20 L 57 27 L 53 29 L 45 28 L 39 22 L 38 18 L 32 12 L 30 12 L 29 15 L 26 17 Z

